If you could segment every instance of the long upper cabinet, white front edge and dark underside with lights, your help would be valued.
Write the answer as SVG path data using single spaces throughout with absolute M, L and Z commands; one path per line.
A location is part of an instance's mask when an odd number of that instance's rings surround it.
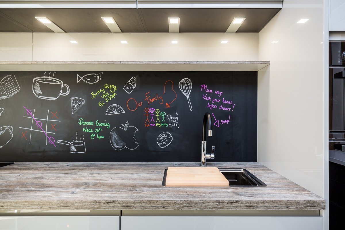
M 169 17 L 179 17 L 181 33 L 225 33 L 230 23 L 237 17 L 245 18 L 237 32 L 257 33 L 282 9 L 282 2 L 279 0 L 3 1 L 0 6 L 0 32 L 53 32 L 35 17 L 46 17 L 65 32 L 111 32 L 101 17 L 112 17 L 120 32 L 162 33 L 169 32 Z

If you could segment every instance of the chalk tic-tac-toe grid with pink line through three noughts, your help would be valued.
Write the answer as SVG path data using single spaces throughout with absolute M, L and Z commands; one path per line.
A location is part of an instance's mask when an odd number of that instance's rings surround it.
M 31 144 L 32 132 L 34 132 L 34 133 L 37 132 L 37 133 L 42 133 L 42 137 L 45 136 L 45 138 L 46 138 L 46 145 L 47 145 L 47 139 L 48 139 L 48 142 L 56 147 L 55 139 L 53 137 L 49 137 L 48 134 L 55 134 L 55 132 L 53 132 L 53 131 L 56 131 L 56 128 L 55 128 L 56 124 L 55 123 L 56 122 L 60 122 L 59 120 L 57 120 L 57 119 L 59 119 L 57 117 L 57 114 L 56 114 L 57 112 L 55 112 L 55 113 L 50 112 L 49 113 L 49 109 L 48 109 L 48 111 L 47 111 L 47 118 L 36 118 L 35 117 L 36 109 L 34 109 L 33 112 L 32 112 L 30 109 L 27 109 L 24 106 L 24 111 L 26 111 L 26 114 L 28 116 L 23 116 L 23 118 L 31 119 L 31 127 L 30 128 L 19 127 L 19 128 L 30 131 L 29 144 Z M 48 126 L 48 124 L 51 124 L 51 126 Z M 50 128 L 53 131 L 51 131 Z

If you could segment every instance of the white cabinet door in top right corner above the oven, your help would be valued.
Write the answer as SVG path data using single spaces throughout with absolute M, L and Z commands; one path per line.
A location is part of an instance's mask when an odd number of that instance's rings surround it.
M 345 31 L 344 0 L 329 0 L 329 31 Z

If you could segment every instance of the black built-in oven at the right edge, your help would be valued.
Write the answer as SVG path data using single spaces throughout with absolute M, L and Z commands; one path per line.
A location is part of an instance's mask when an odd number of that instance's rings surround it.
M 329 149 L 345 151 L 345 41 L 329 42 Z

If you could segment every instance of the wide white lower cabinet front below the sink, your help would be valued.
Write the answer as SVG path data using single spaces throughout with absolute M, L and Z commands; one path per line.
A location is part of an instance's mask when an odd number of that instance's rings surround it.
M 323 230 L 322 217 L 121 217 L 121 230 Z

